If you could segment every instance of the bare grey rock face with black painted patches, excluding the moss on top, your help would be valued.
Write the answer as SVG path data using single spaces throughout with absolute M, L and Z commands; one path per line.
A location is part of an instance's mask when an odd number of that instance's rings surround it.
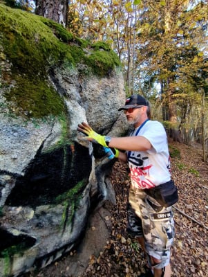
M 4 7 L 0 8 L 3 12 Z M 3 27 L 0 30 L 2 35 Z M 94 208 L 106 200 L 115 202 L 107 177 L 113 161 L 105 157 L 102 147 L 77 134 L 77 124 L 85 121 L 100 134 L 114 136 L 125 134 L 128 126 L 117 111 L 125 100 L 117 66 L 101 77 L 84 75 L 81 69 L 88 67 L 81 62 L 53 64 L 44 73 L 48 87 L 62 98 L 62 111 L 28 116 L 42 102 L 23 109 L 17 96 L 25 93 L 25 87 L 18 84 L 26 73 L 21 68 L 19 75 L 13 69 L 14 60 L 2 40 L 0 49 L 0 275 L 8 277 L 46 267 L 76 247 Z M 9 98 L 12 89 L 19 94 Z M 30 89 L 26 92 L 30 99 Z M 44 102 L 46 96 L 40 99 Z

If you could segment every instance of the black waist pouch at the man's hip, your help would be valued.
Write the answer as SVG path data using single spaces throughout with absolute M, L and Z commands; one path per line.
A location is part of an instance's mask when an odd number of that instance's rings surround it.
M 178 202 L 178 188 L 173 180 L 154 188 L 145 189 L 144 191 L 164 207 L 172 206 Z

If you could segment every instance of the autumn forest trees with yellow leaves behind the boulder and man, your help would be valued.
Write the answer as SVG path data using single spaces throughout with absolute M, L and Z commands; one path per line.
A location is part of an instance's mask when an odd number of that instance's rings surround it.
M 70 33 L 111 45 L 126 96 L 140 93 L 175 141 L 202 145 L 207 161 L 207 0 L 6 0 Z

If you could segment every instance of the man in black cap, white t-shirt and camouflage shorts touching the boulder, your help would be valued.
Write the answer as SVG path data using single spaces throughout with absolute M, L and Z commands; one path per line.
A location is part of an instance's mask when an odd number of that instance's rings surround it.
M 111 148 L 115 157 L 129 162 L 128 229 L 138 238 L 151 268 L 141 276 L 170 277 L 175 233 L 171 206 L 178 201 L 178 193 L 171 181 L 167 135 L 161 123 L 150 120 L 149 102 L 142 96 L 127 98 L 119 110 L 134 126 L 128 137 L 101 136 L 86 123 L 77 130 L 86 134 L 88 141 Z

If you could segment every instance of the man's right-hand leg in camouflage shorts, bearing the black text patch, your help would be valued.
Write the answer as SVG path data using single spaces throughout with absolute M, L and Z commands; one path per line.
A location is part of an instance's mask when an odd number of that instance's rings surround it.
M 171 207 L 156 205 L 154 199 L 146 199 L 141 208 L 145 248 L 154 277 L 171 277 L 170 255 L 175 229 Z M 146 220 L 147 219 L 147 220 Z

